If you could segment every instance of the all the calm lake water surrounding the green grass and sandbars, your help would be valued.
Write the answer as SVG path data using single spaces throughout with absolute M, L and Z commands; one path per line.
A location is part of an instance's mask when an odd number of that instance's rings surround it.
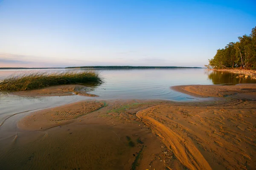
M 43 70 L 0 70 L 0 77 L 28 71 L 59 72 L 67 69 Z M 76 69 L 84 71 L 84 69 Z M 91 94 L 99 95 L 93 99 L 170 99 L 176 101 L 193 100 L 192 96 L 170 89 L 175 85 L 211 85 L 256 83 L 255 80 L 236 78 L 236 74 L 206 71 L 204 69 L 99 69 L 105 83 L 94 89 Z M 49 108 L 83 99 L 86 96 L 21 97 L 0 93 L 0 125 L 10 115 L 19 116 L 36 109 Z M 22 113 L 24 112 L 24 113 Z M 18 119 L 16 115 L 16 119 Z

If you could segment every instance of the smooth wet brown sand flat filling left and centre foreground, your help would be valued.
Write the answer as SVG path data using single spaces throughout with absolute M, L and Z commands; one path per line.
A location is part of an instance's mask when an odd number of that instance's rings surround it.
M 1 167 L 153 170 L 164 169 L 165 162 L 183 167 L 136 116 L 137 111 L 164 103 L 168 102 L 85 101 L 30 113 L 17 122 L 18 130 L 11 138 L 0 141 L 5 146 L 0 147 Z M 62 120 L 62 111 L 67 120 Z M 87 113 L 80 115 L 81 111 Z

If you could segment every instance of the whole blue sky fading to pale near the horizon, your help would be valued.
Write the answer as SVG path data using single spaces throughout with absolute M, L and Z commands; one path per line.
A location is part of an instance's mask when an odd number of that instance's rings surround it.
M 256 0 L 0 0 L 0 67 L 203 67 L 255 26 Z

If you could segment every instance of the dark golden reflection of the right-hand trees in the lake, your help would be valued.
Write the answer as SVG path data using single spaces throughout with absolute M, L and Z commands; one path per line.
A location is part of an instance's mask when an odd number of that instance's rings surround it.
M 245 79 L 244 77 L 239 77 L 239 74 L 222 72 L 222 71 L 209 71 L 208 78 L 212 80 L 212 83 L 217 84 L 226 84 L 226 85 L 236 85 L 240 83 L 256 83 L 255 79 Z

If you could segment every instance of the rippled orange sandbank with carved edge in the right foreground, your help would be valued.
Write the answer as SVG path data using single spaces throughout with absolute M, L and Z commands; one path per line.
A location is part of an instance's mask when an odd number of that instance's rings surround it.
M 137 116 L 189 170 L 255 169 L 255 101 L 157 105 Z

